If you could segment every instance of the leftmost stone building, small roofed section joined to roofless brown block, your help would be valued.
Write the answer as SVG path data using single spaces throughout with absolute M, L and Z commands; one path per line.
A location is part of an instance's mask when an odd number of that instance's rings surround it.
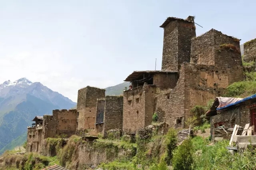
M 40 152 L 43 140 L 46 138 L 69 138 L 76 132 L 77 111 L 54 110 L 52 115 L 37 116 L 32 121 L 32 127 L 28 127 L 27 152 Z

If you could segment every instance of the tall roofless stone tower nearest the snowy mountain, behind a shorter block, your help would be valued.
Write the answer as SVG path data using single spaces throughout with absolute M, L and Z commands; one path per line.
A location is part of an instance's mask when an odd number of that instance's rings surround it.
M 78 90 L 78 130 L 94 128 L 97 99 L 105 97 L 105 89 L 87 86 Z

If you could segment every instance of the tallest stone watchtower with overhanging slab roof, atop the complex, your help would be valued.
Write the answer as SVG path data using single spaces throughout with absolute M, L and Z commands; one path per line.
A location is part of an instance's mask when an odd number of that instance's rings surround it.
M 183 62 L 190 62 L 191 39 L 196 37 L 194 17 L 168 17 L 160 27 L 164 28 L 162 70 L 179 71 Z

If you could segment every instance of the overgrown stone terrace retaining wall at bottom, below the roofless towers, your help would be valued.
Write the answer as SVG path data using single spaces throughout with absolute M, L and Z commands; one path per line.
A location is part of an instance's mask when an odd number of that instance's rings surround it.
M 116 159 L 132 158 L 135 154 L 136 148 L 122 148 L 113 142 L 82 141 L 78 147 L 78 169 L 87 169 Z

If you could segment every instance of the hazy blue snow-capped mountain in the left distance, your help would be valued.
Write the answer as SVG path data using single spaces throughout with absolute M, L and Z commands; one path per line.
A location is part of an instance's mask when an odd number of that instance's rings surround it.
M 37 115 L 54 109 L 70 109 L 75 102 L 39 82 L 26 78 L 0 84 L 0 154 L 26 139 L 27 126 Z

